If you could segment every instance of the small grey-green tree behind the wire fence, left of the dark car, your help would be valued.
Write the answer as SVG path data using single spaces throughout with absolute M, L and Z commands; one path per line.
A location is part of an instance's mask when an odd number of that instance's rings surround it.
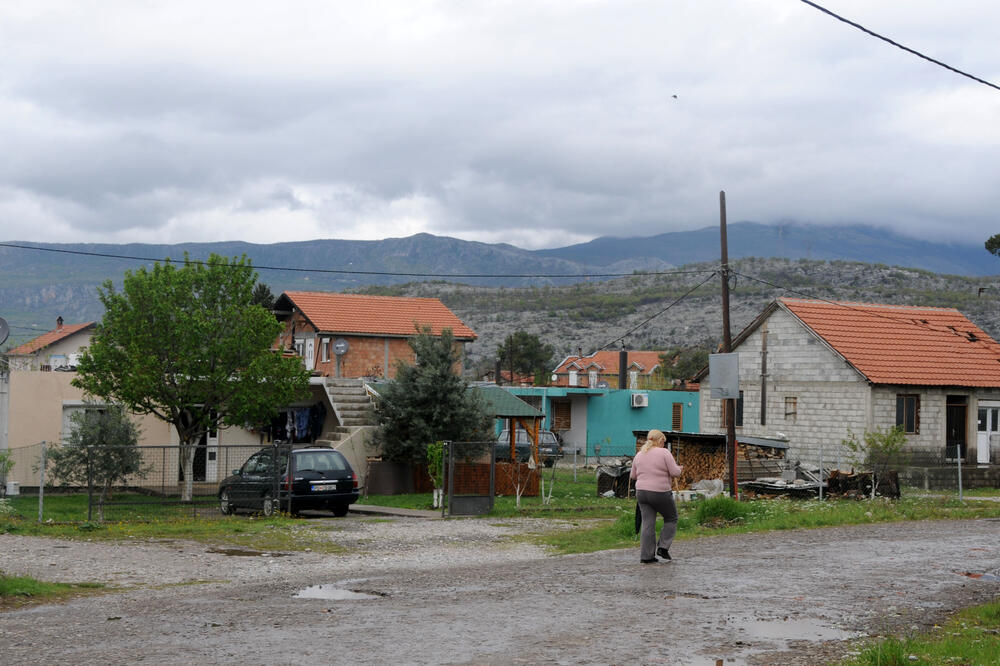
M 103 521 L 112 488 L 130 476 L 144 478 L 149 471 L 138 446 L 139 429 L 120 405 L 90 404 L 69 420 L 66 444 L 48 454 L 50 473 L 64 485 L 96 487 L 97 517 Z

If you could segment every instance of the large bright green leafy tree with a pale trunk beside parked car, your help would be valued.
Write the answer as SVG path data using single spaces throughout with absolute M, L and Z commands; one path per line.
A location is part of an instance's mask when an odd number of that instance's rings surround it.
M 256 281 L 246 256 L 213 254 L 127 271 L 120 292 L 110 280 L 98 289 L 104 317 L 73 384 L 177 430 L 185 500 L 202 435 L 263 425 L 308 395 L 302 363 L 271 349 L 281 324 L 251 302 Z

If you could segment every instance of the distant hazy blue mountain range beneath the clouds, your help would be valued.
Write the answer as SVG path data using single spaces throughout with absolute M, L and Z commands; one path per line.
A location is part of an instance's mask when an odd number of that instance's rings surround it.
M 810 284 L 826 279 L 816 277 L 824 265 L 834 267 L 842 262 L 917 269 L 905 274 L 928 279 L 931 274 L 950 275 L 954 276 L 952 282 L 957 280 L 964 285 L 957 287 L 962 290 L 988 282 L 976 282 L 976 276 L 1000 273 L 1000 260 L 989 254 L 982 244 L 932 243 L 874 227 L 740 222 L 728 227 L 728 247 L 733 262 L 751 257 L 777 258 L 786 263 L 787 260 L 806 262 L 810 267 L 806 271 L 808 275 L 799 275 L 796 279 L 804 279 Z M 669 297 L 673 293 L 660 285 L 650 287 L 654 295 L 631 297 L 629 290 L 638 287 L 634 286 L 636 278 L 628 276 L 655 276 L 699 262 L 710 272 L 719 262 L 720 241 L 719 230 L 712 227 L 644 238 L 601 237 L 588 243 L 534 251 L 502 243 L 487 244 L 430 234 L 378 241 L 328 239 L 274 244 L 115 245 L 11 241 L 0 244 L 0 317 L 4 317 L 11 327 L 8 344 L 24 342 L 53 328 L 58 316 L 67 322 L 99 319 L 102 311 L 97 286 L 108 279 L 120 283 L 126 270 L 150 266 L 168 257 L 182 260 L 185 254 L 193 259 L 205 259 L 211 253 L 247 255 L 257 267 L 260 280 L 275 295 L 290 289 L 419 292 L 439 296 L 460 316 L 463 316 L 462 302 L 476 301 L 470 294 L 484 294 L 485 298 L 495 300 L 497 294 L 506 290 L 505 297 L 513 297 L 512 302 L 521 304 L 510 305 L 508 309 L 524 312 L 535 310 L 528 303 L 533 298 L 555 298 L 561 303 L 558 308 L 539 304 L 540 311 L 546 313 L 544 318 L 551 320 L 556 313 L 563 320 L 593 320 L 598 328 L 592 339 L 588 338 L 590 343 L 603 336 L 600 322 L 609 319 L 609 311 L 625 317 L 634 316 L 641 314 L 646 305 L 656 307 L 660 296 Z M 775 265 L 780 266 L 782 262 Z M 782 274 L 798 275 L 798 272 L 782 269 L 779 277 Z M 611 279 L 613 275 L 621 277 Z M 858 280 L 857 276 L 850 279 Z M 669 275 L 664 275 L 660 282 L 664 280 L 677 285 L 683 282 Z M 643 284 L 647 281 L 644 278 Z M 403 286 L 406 283 L 417 284 Z M 586 286 L 581 290 L 583 285 Z M 802 286 L 801 283 L 796 285 Z M 539 290 L 552 291 L 541 296 Z M 574 293 L 584 300 L 574 301 L 571 297 Z M 885 300 L 886 294 L 880 298 Z M 595 307 L 595 303 L 612 301 L 610 310 Z M 489 355 L 491 345 L 496 342 L 493 338 L 499 335 L 502 341 L 503 331 L 508 328 L 502 322 L 497 325 L 496 319 L 502 317 L 496 307 L 495 304 L 485 308 L 470 306 L 464 313 L 470 317 L 467 323 L 474 329 L 479 331 L 479 327 L 483 327 L 491 331 L 487 336 L 481 332 L 482 339 L 475 345 L 484 356 Z M 539 328 L 531 325 L 531 321 L 522 323 L 527 328 Z M 579 323 L 576 330 L 580 330 Z M 542 330 L 544 332 L 544 327 Z M 708 332 L 705 334 L 710 337 Z M 563 340 L 565 336 L 556 336 L 554 330 L 548 335 L 558 343 L 555 345 L 558 349 L 570 346 L 575 349 L 575 343 L 580 342 L 579 339 Z M 569 336 L 573 337 L 572 332 Z M 679 338 L 683 339 L 683 335 L 679 334 Z M 665 336 L 648 339 L 645 344 L 663 345 L 669 340 L 670 336 Z

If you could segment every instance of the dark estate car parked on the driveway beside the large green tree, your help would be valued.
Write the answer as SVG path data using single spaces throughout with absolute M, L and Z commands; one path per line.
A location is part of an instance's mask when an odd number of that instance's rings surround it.
M 277 461 L 275 461 L 277 454 Z M 347 458 L 329 447 L 266 448 L 250 456 L 219 484 L 219 510 L 251 509 L 270 516 L 328 509 L 346 516 L 358 501 L 358 475 Z

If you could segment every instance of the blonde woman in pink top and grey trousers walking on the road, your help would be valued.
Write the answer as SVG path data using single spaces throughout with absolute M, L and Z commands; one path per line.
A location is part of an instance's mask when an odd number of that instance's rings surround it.
M 632 461 L 631 478 L 635 479 L 635 498 L 642 514 L 639 533 L 639 561 L 643 564 L 659 562 L 656 555 L 670 559 L 670 544 L 677 534 L 677 505 L 671 492 L 670 479 L 678 477 L 683 467 L 664 444 L 667 438 L 659 430 L 650 430 L 646 443 Z M 656 514 L 663 516 L 660 539 L 656 539 Z M 654 554 L 655 551 L 655 554 Z

